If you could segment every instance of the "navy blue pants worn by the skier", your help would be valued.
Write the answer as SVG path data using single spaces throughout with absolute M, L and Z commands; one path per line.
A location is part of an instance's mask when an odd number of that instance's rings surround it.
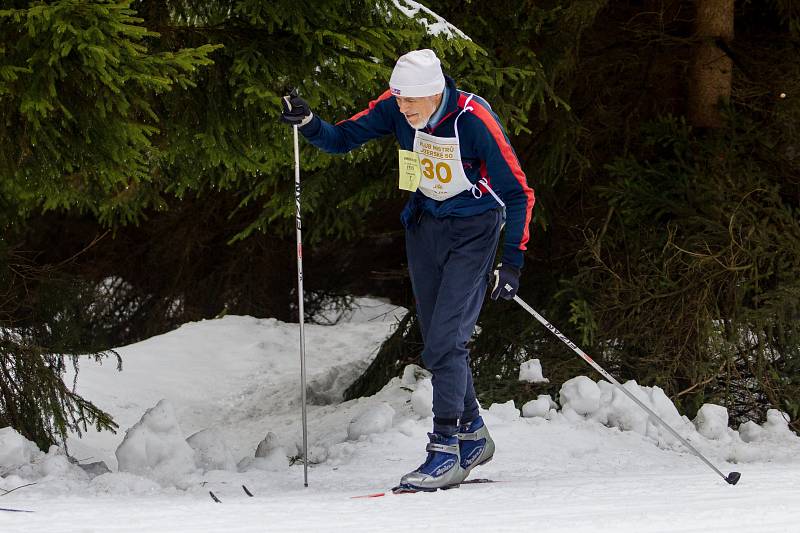
M 406 230 L 408 269 L 425 343 L 422 362 L 433 373 L 435 422 L 478 417 L 466 345 L 486 296 L 501 216 L 499 209 L 471 217 L 425 213 Z M 439 431 L 436 424 L 434 431 Z

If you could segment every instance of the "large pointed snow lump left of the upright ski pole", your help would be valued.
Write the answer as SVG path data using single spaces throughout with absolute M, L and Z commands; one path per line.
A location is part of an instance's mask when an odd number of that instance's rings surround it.
M 162 485 L 186 487 L 196 473 L 195 452 L 182 436 L 175 411 L 167 400 L 148 409 L 125 434 L 117 448 L 120 472 L 130 472 Z

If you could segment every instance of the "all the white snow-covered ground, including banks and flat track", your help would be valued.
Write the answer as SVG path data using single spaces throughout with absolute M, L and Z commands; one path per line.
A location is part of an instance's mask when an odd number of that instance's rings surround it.
M 298 327 L 229 316 L 120 348 L 122 372 L 82 365 L 78 392 L 120 431 L 71 438 L 69 453 L 109 472 L 0 430 L 0 508 L 34 511 L 0 512 L 0 532 L 800 531 L 800 438 L 781 413 L 734 431 L 724 409 L 690 421 L 660 389 L 626 384 L 720 470 L 741 472 L 731 486 L 585 376 L 558 398 L 485 406 L 497 453 L 472 477 L 498 483 L 353 498 L 386 492 L 421 463 L 431 426 L 430 380 L 415 367 L 341 401 L 404 312 L 360 304 L 347 321 L 307 326 L 308 487 L 290 464 L 302 442 Z M 520 379 L 546 374 L 534 360 Z

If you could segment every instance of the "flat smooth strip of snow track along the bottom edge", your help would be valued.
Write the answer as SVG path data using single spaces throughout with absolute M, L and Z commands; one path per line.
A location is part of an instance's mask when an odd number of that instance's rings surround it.
M 797 469 L 745 469 L 733 487 L 704 472 L 625 473 L 551 478 L 546 469 L 506 483 L 465 486 L 432 494 L 350 499 L 336 480 L 293 486 L 249 498 L 221 486 L 216 504 L 200 493 L 137 498 L 61 496 L 48 501 L 8 497 L 3 505 L 35 514 L 0 516 L 7 532 L 40 531 L 428 531 L 454 524 L 472 531 L 792 532 L 800 523 Z M 495 477 L 492 469 L 484 469 Z M 322 473 L 320 473 L 322 475 Z M 519 474 L 518 474 L 519 476 Z M 780 487 L 781 490 L 776 491 Z M 274 490 L 274 489 L 273 489 Z M 366 493 L 365 492 L 365 493 Z M 464 526 L 468 523 L 468 526 Z M 57 525 L 57 527 L 54 527 Z

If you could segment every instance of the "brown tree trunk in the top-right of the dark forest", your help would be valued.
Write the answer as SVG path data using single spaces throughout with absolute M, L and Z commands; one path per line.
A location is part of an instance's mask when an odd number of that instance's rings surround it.
M 734 0 L 698 0 L 696 36 L 689 87 L 689 120 L 695 127 L 719 128 L 720 103 L 731 96 L 733 62 L 717 45 L 733 41 Z

